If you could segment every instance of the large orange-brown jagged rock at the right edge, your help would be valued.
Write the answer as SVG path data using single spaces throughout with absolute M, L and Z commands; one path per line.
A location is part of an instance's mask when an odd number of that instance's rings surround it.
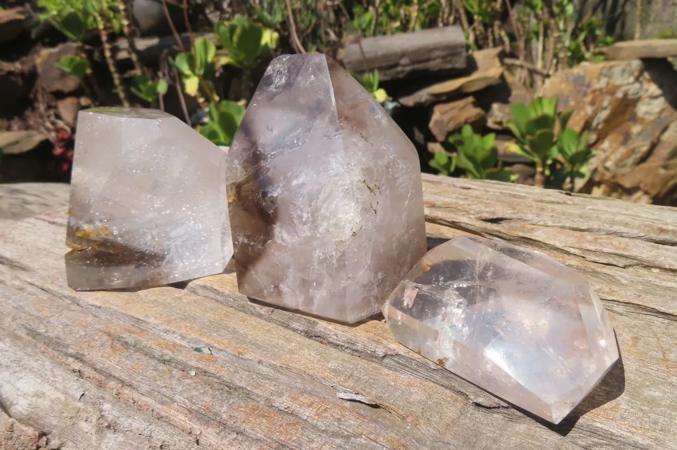
M 569 127 L 589 129 L 597 152 L 576 190 L 677 205 L 676 79 L 666 60 L 632 60 L 582 64 L 546 81 L 540 95 L 575 108 Z

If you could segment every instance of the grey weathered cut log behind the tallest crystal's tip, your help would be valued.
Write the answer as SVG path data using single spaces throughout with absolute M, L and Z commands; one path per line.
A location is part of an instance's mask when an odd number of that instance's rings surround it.
M 461 69 L 466 66 L 465 38 L 460 26 L 368 37 L 345 47 L 343 64 L 355 73 L 378 69 L 382 80 L 423 70 Z

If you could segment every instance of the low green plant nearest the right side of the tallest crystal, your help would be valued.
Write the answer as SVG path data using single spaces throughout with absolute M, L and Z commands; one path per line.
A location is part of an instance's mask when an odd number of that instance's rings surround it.
M 447 155 L 445 151 L 440 150 L 435 153 L 430 165 L 445 175 L 450 175 L 456 167 L 459 167 L 466 172 L 467 178 L 514 181 L 517 175 L 507 169 L 495 167 L 498 162 L 495 139 L 494 133 L 480 136 L 475 134 L 473 127 L 464 125 L 459 134 L 449 138 L 449 142 L 456 147 L 456 153 Z

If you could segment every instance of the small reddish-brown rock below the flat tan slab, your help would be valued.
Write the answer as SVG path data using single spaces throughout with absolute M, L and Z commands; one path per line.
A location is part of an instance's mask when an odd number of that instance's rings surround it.
M 436 104 L 433 107 L 429 128 L 438 142 L 463 125 L 472 125 L 478 131 L 486 122 L 486 113 L 475 104 L 474 97 L 466 97 L 456 102 Z

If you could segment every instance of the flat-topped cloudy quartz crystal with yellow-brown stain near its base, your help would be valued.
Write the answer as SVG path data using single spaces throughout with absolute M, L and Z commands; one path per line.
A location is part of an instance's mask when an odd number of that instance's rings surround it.
M 148 287 L 222 272 L 233 253 L 225 165 L 221 148 L 165 112 L 81 111 L 68 285 Z

